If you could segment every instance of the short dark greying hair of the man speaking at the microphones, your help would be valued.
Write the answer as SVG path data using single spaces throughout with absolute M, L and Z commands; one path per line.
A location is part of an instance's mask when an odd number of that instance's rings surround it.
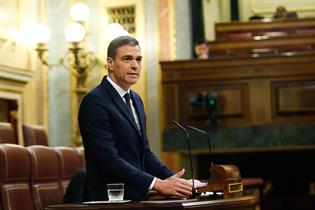
M 115 39 L 113 39 L 107 48 L 107 57 L 112 58 L 115 60 L 117 49 L 124 45 L 130 45 L 130 46 L 139 46 L 138 40 L 131 36 L 119 36 Z

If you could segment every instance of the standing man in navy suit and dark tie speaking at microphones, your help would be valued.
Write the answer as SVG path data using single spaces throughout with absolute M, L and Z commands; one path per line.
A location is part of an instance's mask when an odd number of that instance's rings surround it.
M 145 200 L 149 190 L 189 197 L 191 182 L 174 174 L 151 152 L 140 96 L 130 90 L 141 71 L 136 39 L 121 36 L 107 50 L 108 76 L 82 100 L 79 127 L 86 158 L 84 200 L 107 200 L 106 184 L 124 183 L 124 199 Z

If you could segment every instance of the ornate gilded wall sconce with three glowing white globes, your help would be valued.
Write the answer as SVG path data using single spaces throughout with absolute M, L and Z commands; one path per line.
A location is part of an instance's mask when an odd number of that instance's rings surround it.
M 50 39 L 50 29 L 45 25 L 37 26 L 37 47 L 36 51 L 42 64 L 47 67 L 54 67 L 57 65 L 64 65 L 77 78 L 77 94 L 78 102 L 81 101 L 83 95 L 86 93 L 86 79 L 88 73 L 99 62 L 93 52 L 86 51 L 83 48 L 86 31 L 84 22 L 89 17 L 90 11 L 86 4 L 77 3 L 71 7 L 70 16 L 74 21 L 65 29 L 65 38 L 70 43 L 68 51 L 63 58 L 59 59 L 58 63 L 51 64 L 47 61 L 47 42 Z

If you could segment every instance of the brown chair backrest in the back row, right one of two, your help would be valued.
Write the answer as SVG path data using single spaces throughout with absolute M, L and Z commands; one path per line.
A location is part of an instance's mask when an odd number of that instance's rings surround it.
M 46 130 L 42 125 L 23 125 L 23 136 L 25 146 L 44 145 L 48 146 Z

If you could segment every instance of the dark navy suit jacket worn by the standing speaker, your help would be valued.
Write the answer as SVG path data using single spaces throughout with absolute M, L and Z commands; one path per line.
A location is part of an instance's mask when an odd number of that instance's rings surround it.
M 124 199 L 145 200 L 154 178 L 173 172 L 151 152 L 146 137 L 142 100 L 131 91 L 141 130 L 131 118 L 125 102 L 107 81 L 82 100 L 79 127 L 86 158 L 84 200 L 107 200 L 107 183 L 125 183 Z

